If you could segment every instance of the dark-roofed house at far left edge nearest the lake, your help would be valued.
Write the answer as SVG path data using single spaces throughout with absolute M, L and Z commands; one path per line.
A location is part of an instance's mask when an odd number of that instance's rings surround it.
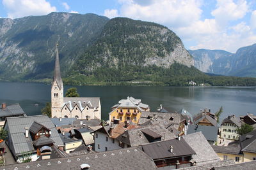
M 24 117 L 26 113 L 20 107 L 20 104 L 2 103 L 0 107 L 0 127 L 3 127 L 7 117 Z

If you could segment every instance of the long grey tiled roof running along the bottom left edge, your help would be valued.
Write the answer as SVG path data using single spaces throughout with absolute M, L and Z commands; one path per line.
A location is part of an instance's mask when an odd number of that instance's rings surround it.
M 122 164 L 120 164 L 122 162 Z M 81 169 L 88 164 L 90 169 L 157 169 L 154 162 L 142 150 L 136 147 L 90 153 L 58 159 L 40 160 L 22 164 L 3 166 L 4 169 Z M 27 168 L 26 168 L 27 167 Z M 17 169 L 16 168 L 16 169 Z

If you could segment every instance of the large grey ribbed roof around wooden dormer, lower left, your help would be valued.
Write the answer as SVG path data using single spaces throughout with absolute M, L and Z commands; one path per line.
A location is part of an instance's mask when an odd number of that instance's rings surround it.
M 63 142 L 58 134 L 58 131 L 54 124 L 47 115 L 36 115 L 29 117 L 8 117 L 6 118 L 6 124 L 4 129 L 8 130 L 8 138 L 12 138 L 13 155 L 18 155 L 22 152 L 34 151 L 32 139 L 29 134 L 29 138 L 25 136 L 25 128 L 31 127 L 33 122 L 38 122 L 44 125 L 51 131 L 51 139 L 54 141 L 54 145 L 63 146 Z M 10 146 L 9 146 L 10 147 Z

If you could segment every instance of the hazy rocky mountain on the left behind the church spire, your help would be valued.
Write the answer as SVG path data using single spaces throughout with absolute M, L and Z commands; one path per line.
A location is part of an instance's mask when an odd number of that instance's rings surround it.
M 63 75 L 97 39 L 108 18 L 50 13 L 0 18 L 0 80 L 51 78 L 58 41 Z

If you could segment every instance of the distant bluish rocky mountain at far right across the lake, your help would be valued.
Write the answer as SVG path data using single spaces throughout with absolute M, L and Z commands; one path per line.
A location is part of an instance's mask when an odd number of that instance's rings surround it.
M 236 53 L 223 50 L 189 50 L 195 67 L 205 73 L 256 77 L 256 44 L 239 48 Z

